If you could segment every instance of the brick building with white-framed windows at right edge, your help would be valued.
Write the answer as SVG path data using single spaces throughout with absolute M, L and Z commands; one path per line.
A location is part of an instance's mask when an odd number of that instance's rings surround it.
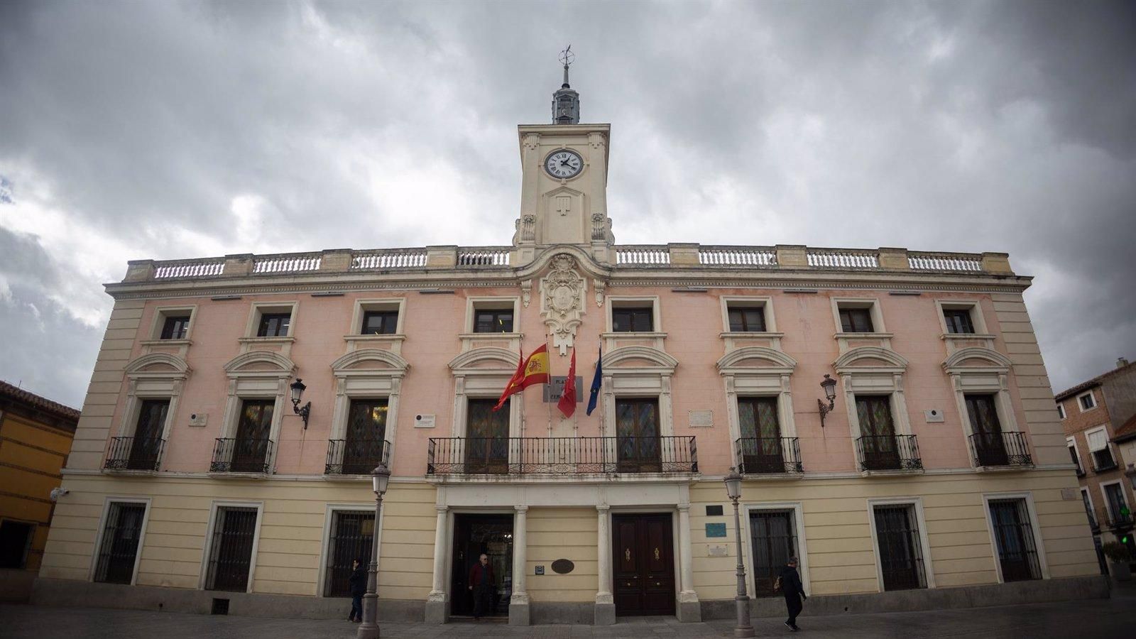
M 1112 371 L 1054 399 L 1094 543 L 1120 541 L 1136 555 L 1136 364 L 1121 357 Z

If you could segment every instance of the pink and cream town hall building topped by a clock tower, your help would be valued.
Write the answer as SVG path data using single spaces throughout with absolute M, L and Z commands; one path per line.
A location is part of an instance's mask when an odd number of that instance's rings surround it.
M 1106 596 L 1005 254 L 618 244 L 578 114 L 518 128 L 509 246 L 131 262 L 35 600 L 342 617 L 378 534 L 386 619 L 482 553 L 511 623 L 728 616 L 730 467 L 757 614 L 790 555 L 815 612 Z M 494 412 L 545 343 L 575 415 Z

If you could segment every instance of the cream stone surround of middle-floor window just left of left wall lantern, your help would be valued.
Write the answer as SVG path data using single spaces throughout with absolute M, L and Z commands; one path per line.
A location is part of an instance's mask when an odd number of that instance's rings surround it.
M 277 366 L 275 371 L 240 371 L 247 364 L 270 363 Z M 270 350 L 250 350 L 242 352 L 225 364 L 228 377 L 228 392 L 225 399 L 225 413 L 222 417 L 219 439 L 236 437 L 241 418 L 241 407 L 247 399 L 273 399 L 273 423 L 268 430 L 268 440 L 273 442 L 272 451 L 265 459 L 267 474 L 276 471 L 276 456 L 279 453 L 279 434 L 284 415 L 292 404 L 289 380 L 295 375 L 295 364 L 291 359 Z M 217 473 L 223 476 L 244 475 L 248 473 Z M 261 474 L 261 473 L 254 473 Z

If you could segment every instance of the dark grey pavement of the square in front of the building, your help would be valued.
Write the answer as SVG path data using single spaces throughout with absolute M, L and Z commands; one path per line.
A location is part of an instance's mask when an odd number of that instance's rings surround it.
M 828 638 L 1060 638 L 1131 637 L 1131 611 L 1136 598 L 1128 594 L 1106 600 L 1030 604 L 914 613 L 803 616 L 796 637 Z M 755 619 L 758 637 L 788 636 L 780 619 Z M 149 611 L 101 608 L 51 608 L 0 606 L 3 639 L 350 639 L 356 624 L 241 616 L 208 616 Z M 674 619 L 620 620 L 609 626 L 535 625 L 510 628 L 503 623 L 382 624 L 386 639 L 427 638 L 535 638 L 623 639 L 732 637 L 733 622 L 678 623 Z

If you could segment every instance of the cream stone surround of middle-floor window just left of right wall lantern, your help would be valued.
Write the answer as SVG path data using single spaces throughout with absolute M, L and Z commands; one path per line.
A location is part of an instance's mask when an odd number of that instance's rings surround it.
M 767 325 L 768 326 L 768 325 Z M 762 359 L 769 366 L 740 366 L 747 359 Z M 793 416 L 793 391 L 791 387 L 796 360 L 785 352 L 767 347 L 742 347 L 724 355 L 715 365 L 726 391 L 726 416 L 729 430 L 730 458 L 735 464 L 737 450 L 734 442 L 742 437 L 742 421 L 737 407 L 738 398 L 774 397 L 777 399 L 777 422 L 783 438 L 796 435 Z M 782 473 L 792 478 L 790 473 Z

